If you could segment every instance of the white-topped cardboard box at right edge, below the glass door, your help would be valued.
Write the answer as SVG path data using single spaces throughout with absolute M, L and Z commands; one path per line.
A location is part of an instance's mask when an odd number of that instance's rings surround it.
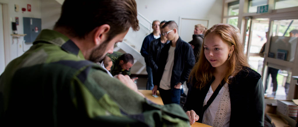
M 298 106 L 293 101 L 277 100 L 277 111 L 289 117 L 297 117 Z

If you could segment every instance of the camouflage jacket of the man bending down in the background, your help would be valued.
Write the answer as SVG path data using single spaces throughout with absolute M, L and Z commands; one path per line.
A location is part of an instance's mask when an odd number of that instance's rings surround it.
M 107 54 L 108 57 L 111 58 L 113 65 L 111 66 L 111 74 L 113 76 L 122 74 L 122 75 L 131 75 L 131 68 L 129 70 L 122 69 L 121 66 L 119 65 L 119 60 L 118 58 L 122 55 L 120 52 L 113 52 L 112 54 Z

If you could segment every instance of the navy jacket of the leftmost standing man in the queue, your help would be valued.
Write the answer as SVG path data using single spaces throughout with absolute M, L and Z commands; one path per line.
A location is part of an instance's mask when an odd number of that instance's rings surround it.
M 145 37 L 142 44 L 141 55 L 145 58 L 145 62 L 147 66 L 149 66 L 147 47 L 150 45 L 150 42 L 153 41 L 154 39 L 155 38 L 153 36 L 153 33 L 150 33 L 148 36 Z

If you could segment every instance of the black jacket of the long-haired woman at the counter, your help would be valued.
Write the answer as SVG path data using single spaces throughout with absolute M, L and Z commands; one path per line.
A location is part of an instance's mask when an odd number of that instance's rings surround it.
M 264 89 L 260 78 L 261 75 L 249 67 L 243 67 L 235 77 L 230 78 L 231 127 L 264 126 Z M 192 80 L 191 84 L 196 82 Z M 184 111 L 194 110 L 199 115 L 199 119 L 203 119 L 203 103 L 211 83 L 208 84 L 201 90 L 192 85 L 183 106 Z

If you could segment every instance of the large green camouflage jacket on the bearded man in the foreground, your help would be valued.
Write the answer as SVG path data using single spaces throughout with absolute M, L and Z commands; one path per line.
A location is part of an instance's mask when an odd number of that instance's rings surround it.
M 53 30 L 42 30 L 32 47 L 1 74 L 0 123 L 189 126 L 179 105 L 146 100 L 85 60 L 73 41 Z

